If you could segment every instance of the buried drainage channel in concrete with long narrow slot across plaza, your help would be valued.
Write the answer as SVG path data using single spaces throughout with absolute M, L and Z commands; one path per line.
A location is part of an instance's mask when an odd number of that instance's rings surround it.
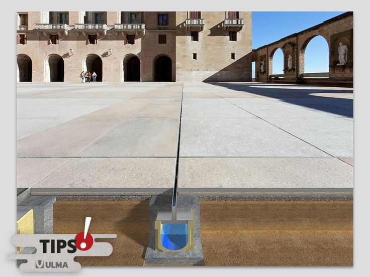
M 197 196 L 188 195 L 178 197 L 177 194 L 182 99 L 183 86 L 172 197 L 157 195 L 152 196 L 150 200 L 150 237 L 145 253 L 145 265 L 204 264 L 199 199 Z

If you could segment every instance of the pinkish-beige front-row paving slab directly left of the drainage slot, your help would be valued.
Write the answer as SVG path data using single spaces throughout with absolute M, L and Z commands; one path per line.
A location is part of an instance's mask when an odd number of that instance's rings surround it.
M 170 189 L 175 165 L 175 158 L 73 158 L 34 188 Z

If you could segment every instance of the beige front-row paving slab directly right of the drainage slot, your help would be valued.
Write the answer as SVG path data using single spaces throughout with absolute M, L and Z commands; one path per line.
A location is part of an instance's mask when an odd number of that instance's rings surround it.
M 180 158 L 178 188 L 351 189 L 353 166 L 336 158 Z

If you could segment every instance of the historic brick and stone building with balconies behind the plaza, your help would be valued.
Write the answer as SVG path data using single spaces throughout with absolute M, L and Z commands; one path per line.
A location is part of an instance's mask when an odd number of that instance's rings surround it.
M 251 81 L 250 12 L 19 12 L 17 81 Z

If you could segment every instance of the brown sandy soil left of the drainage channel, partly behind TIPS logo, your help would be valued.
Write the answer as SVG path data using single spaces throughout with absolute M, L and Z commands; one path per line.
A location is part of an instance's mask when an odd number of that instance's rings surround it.
M 113 246 L 108 257 L 76 257 L 81 265 L 143 265 L 149 239 L 149 201 L 57 201 L 54 233 L 83 231 L 91 216 L 90 234 L 117 234 L 102 238 Z

